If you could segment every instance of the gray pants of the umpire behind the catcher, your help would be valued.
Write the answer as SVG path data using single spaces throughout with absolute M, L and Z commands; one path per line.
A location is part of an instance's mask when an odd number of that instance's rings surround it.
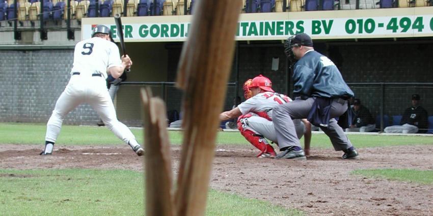
M 278 145 L 281 148 L 288 146 L 299 146 L 301 144 L 296 137 L 292 119 L 307 118 L 308 113 L 313 106 L 314 98 L 307 100 L 294 100 L 287 104 L 282 104 L 273 109 L 272 120 L 275 131 L 277 132 Z M 343 129 L 337 125 L 334 119 L 342 115 L 347 110 L 347 101 L 336 98 L 331 102 L 331 111 L 329 127 L 320 127 L 320 129 L 331 139 L 332 145 L 336 151 L 350 148 L 352 144 L 344 134 Z

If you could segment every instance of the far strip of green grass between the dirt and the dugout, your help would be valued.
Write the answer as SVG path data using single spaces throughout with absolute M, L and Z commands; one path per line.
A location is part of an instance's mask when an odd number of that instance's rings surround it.
M 1 144 L 43 144 L 45 142 L 45 125 L 0 123 Z M 143 130 L 131 129 L 138 141 L 143 143 Z M 79 134 L 79 136 L 77 136 Z M 431 136 L 385 136 L 349 134 L 350 141 L 357 148 L 384 147 L 393 145 L 433 144 Z M 181 131 L 169 131 L 172 144 L 182 143 Z M 303 141 L 302 141 L 303 142 Z M 106 127 L 63 126 L 57 143 L 62 145 L 89 144 L 122 144 Z M 236 132 L 219 132 L 217 144 L 250 145 Z M 312 148 L 332 148 L 331 141 L 325 134 L 313 134 Z

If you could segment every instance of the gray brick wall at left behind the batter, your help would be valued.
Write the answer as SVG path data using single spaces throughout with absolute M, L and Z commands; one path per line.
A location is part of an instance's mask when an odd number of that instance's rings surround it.
M 0 121 L 46 122 L 69 80 L 73 50 L 0 51 Z M 80 105 L 65 124 L 95 124 L 97 113 Z

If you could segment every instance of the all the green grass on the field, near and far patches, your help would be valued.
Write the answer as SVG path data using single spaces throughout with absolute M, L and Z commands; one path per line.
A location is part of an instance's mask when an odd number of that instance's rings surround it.
M 0 123 L 1 144 L 44 143 L 45 125 Z M 143 130 L 132 129 L 143 143 Z M 79 136 L 78 136 L 79 135 Z M 348 135 L 357 148 L 433 145 L 425 136 Z M 182 132 L 170 131 L 179 145 Z M 105 127 L 63 126 L 62 145 L 123 144 Z M 219 132 L 217 144 L 250 145 L 239 133 Z M 312 148 L 332 148 L 324 134 L 313 134 Z M 0 162 L 1 163 L 1 162 Z M 355 170 L 353 174 L 431 184 L 432 171 Z M 139 182 L 139 183 L 137 183 Z M 141 186 L 137 188 L 137 186 Z M 0 215 L 143 215 L 143 176 L 129 170 L 0 170 Z M 268 202 L 211 190 L 206 215 L 302 215 Z

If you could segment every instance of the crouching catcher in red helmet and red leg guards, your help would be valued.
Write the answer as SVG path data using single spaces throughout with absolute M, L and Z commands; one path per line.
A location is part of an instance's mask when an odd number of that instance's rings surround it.
M 272 82 L 262 75 L 249 79 L 243 84 L 245 102 L 230 111 L 220 114 L 220 120 L 238 117 L 237 128 L 252 145 L 260 150 L 258 158 L 274 158 L 276 152 L 268 140 L 277 143 L 277 134 L 272 122 L 272 110 L 292 100 L 272 89 Z M 311 125 L 307 119 L 293 119 L 299 139 L 303 135 L 306 156 L 310 155 Z M 277 143 L 278 144 L 278 143 Z

